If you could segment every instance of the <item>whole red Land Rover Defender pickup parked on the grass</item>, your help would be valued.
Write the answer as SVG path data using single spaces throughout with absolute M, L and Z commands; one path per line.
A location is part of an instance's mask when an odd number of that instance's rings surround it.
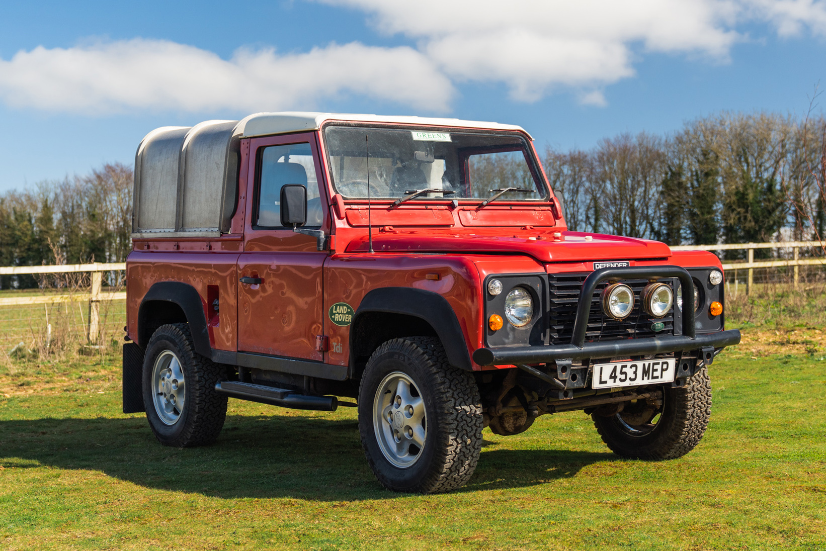
M 358 406 L 368 462 L 401 492 L 460 487 L 484 427 L 563 411 L 620 456 L 676 458 L 708 423 L 708 366 L 740 339 L 717 257 L 567 231 L 518 126 L 163 127 L 138 148 L 134 200 L 123 408 L 161 444 L 213 442 L 232 397 Z

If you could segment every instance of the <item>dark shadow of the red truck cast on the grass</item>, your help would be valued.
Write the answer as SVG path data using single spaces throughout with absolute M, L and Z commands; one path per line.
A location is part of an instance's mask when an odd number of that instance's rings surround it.
M 610 453 L 557 449 L 484 451 L 459 492 L 529 487 L 575 476 Z M 88 469 L 158 490 L 216 497 L 382 499 L 354 419 L 227 416 L 216 444 L 166 448 L 143 417 L 0 421 L 0 465 Z

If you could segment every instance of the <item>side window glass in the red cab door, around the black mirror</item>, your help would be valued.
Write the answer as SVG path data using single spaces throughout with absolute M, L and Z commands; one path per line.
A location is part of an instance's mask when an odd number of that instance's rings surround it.
M 261 152 L 258 216 L 255 226 L 281 227 L 281 188 L 300 183 L 307 188 L 306 226 L 321 226 L 321 208 L 316 165 L 310 144 L 270 145 Z

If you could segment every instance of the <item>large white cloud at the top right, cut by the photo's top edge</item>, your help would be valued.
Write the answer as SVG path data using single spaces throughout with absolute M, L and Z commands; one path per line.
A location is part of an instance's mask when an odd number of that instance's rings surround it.
M 451 78 L 506 83 L 527 101 L 628 78 L 634 50 L 727 61 L 747 21 L 767 22 L 781 36 L 806 27 L 826 34 L 820 0 L 316 1 L 367 12 L 379 31 L 417 40 Z

